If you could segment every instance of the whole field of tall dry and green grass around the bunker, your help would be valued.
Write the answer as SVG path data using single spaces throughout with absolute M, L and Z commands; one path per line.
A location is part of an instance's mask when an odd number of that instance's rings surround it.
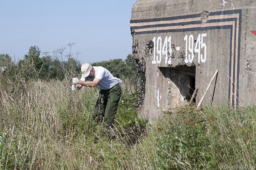
M 146 123 L 130 104 L 123 79 L 110 138 L 92 120 L 97 88 L 72 92 L 71 78 L 31 80 L 9 71 L 0 74 L 0 170 L 255 166 L 255 107 L 182 107 Z

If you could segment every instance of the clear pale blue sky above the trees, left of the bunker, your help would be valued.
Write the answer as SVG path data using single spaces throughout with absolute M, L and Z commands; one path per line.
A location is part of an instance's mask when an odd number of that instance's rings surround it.
M 31 46 L 71 53 L 93 63 L 132 52 L 131 9 L 136 0 L 4 0 L 0 2 L 0 54 L 23 59 Z

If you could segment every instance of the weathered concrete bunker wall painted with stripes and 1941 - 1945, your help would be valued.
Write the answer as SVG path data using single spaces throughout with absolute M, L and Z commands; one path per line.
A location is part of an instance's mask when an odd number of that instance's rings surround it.
M 256 105 L 255 0 L 138 0 L 130 21 L 133 57 L 146 62 L 148 120 L 196 103 L 218 69 L 203 105 Z M 194 87 L 192 87 L 194 86 Z

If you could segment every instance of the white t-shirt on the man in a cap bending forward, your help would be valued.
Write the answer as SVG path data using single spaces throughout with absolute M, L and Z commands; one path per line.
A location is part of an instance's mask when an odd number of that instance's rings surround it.
M 93 68 L 95 69 L 94 78 L 99 78 L 101 80 L 99 84 L 96 85 L 96 87 L 100 89 L 110 89 L 114 85 L 122 82 L 119 78 L 115 78 L 111 72 L 102 66 L 93 66 Z M 94 78 L 80 78 L 80 81 L 93 81 Z

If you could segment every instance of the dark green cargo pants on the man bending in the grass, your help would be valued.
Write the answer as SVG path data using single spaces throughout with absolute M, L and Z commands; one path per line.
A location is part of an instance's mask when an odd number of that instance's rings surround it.
M 109 127 L 114 126 L 114 117 L 117 113 L 117 106 L 121 96 L 121 87 L 119 84 L 114 85 L 111 89 L 100 90 L 99 98 L 96 102 L 96 107 L 93 113 L 93 118 L 102 122 L 103 128 L 110 130 Z

